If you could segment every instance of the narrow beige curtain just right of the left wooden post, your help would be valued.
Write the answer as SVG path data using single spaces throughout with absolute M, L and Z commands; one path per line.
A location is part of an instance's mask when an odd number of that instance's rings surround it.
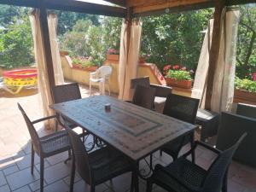
M 60 49 L 58 46 L 58 38 L 57 38 L 57 24 L 58 18 L 54 13 L 50 13 L 48 15 L 48 26 L 49 26 L 49 38 L 50 38 L 50 48 L 52 61 L 54 65 L 55 72 L 55 84 L 64 84 L 63 71 L 61 67 L 61 55 Z

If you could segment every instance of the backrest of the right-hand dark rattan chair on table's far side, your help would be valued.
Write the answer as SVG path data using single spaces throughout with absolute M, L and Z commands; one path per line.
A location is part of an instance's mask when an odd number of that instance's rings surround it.
M 164 114 L 195 124 L 199 99 L 170 94 L 166 98 Z

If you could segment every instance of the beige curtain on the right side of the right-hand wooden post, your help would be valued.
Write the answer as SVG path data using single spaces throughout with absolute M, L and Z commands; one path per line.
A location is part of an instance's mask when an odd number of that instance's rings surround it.
M 239 23 L 239 10 L 227 11 L 221 31 L 218 66 L 212 89 L 212 111 L 230 111 L 234 97 L 236 71 L 236 40 Z

